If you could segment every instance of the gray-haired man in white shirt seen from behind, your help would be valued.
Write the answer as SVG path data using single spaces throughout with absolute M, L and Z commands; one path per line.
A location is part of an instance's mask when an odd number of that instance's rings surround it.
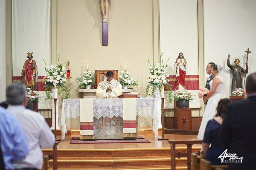
M 12 83 L 6 88 L 7 111 L 12 113 L 22 125 L 29 139 L 29 154 L 25 159 L 14 164 L 16 169 L 41 169 L 43 153 L 41 147 L 50 148 L 55 137 L 43 116 L 26 109 L 26 87 L 22 83 Z

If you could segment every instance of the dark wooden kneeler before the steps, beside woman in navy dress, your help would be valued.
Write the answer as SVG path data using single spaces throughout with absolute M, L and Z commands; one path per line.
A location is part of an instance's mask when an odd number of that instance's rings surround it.
M 187 164 L 188 170 L 191 170 L 191 153 L 192 153 L 192 144 L 201 144 L 202 140 L 199 139 L 188 139 L 188 140 L 169 140 L 169 144 L 171 144 L 171 170 L 176 170 L 176 153 L 175 153 L 175 146 L 176 144 L 186 144 L 187 145 L 187 153 L 180 153 L 178 154 L 178 158 L 180 156 L 187 157 Z

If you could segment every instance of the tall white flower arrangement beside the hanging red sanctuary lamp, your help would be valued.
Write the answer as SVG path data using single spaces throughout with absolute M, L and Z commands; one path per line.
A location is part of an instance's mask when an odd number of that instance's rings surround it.
M 70 93 L 69 93 L 70 90 L 65 85 L 67 81 L 65 79 L 66 67 L 62 66 L 59 63 L 59 57 L 55 65 L 52 65 L 52 62 L 50 63 L 50 65 L 47 65 L 45 61 L 44 61 L 44 64 L 45 64 L 44 70 L 46 71 L 46 74 L 47 74 L 44 77 L 44 79 L 46 79 L 44 84 L 46 85 L 45 91 L 46 91 L 47 98 L 48 99 L 50 98 L 50 91 L 53 87 L 58 88 L 58 95 L 61 95 L 62 93 L 62 94 L 65 94 L 64 98 L 70 98 Z

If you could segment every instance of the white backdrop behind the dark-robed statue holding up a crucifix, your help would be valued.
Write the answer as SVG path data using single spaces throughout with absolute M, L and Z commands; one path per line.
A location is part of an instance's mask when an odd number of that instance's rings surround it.
M 227 67 L 227 53 L 230 61 L 241 58 L 240 66 L 245 68 L 244 51 L 250 48 L 248 74 L 256 71 L 255 9 L 255 0 L 204 0 L 204 64 L 215 62 L 224 66 L 223 76 L 229 93 L 232 74 Z

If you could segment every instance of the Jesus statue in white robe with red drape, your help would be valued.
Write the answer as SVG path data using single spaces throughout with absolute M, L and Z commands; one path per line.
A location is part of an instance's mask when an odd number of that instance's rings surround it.
M 183 56 L 183 53 L 179 53 L 178 58 L 175 61 L 174 68 L 176 70 L 177 79 L 177 90 L 185 89 L 185 78 L 186 78 L 186 68 L 188 63 Z

